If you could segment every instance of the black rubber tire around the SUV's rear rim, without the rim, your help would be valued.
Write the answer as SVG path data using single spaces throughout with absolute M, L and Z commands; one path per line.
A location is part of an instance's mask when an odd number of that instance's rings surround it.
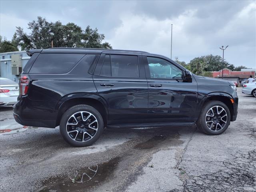
M 93 137 L 90 140 L 83 141 L 83 142 L 82 142 L 82 139 L 81 139 L 81 141 L 76 141 L 76 140 L 72 139 L 68 135 L 68 132 L 67 132 L 67 127 L 68 127 L 67 122 L 68 122 L 68 120 L 71 118 L 71 116 L 73 114 L 76 114 L 76 113 L 81 112 L 81 111 L 91 113 L 93 115 L 93 117 L 96 118 L 97 123 L 98 123 L 97 124 L 98 128 L 96 130 L 96 133 L 93 135 Z M 89 106 L 89 105 L 82 105 L 81 104 L 81 105 L 76 105 L 76 106 L 73 106 L 73 107 L 69 108 L 68 110 L 66 110 L 66 112 L 64 112 L 64 114 L 62 115 L 62 118 L 60 120 L 60 134 L 62 135 L 62 137 L 64 138 L 64 140 L 66 142 L 68 142 L 70 145 L 72 145 L 74 147 L 84 147 L 84 146 L 92 145 L 94 142 L 96 142 L 96 140 L 98 140 L 98 138 L 102 134 L 103 128 L 104 128 L 104 123 L 103 123 L 102 116 L 100 115 L 100 113 L 95 108 L 93 108 L 92 106 Z M 80 133 L 80 134 L 82 134 L 82 133 Z

